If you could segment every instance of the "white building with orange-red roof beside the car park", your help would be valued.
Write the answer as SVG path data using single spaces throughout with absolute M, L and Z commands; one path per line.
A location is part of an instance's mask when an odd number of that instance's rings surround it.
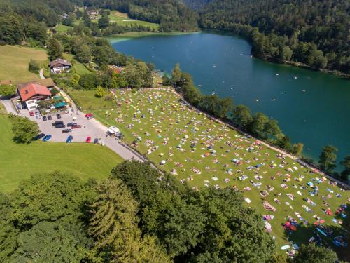
M 39 100 L 48 100 L 51 97 L 50 90 L 38 83 L 27 83 L 18 89 L 18 93 L 29 110 L 36 109 Z

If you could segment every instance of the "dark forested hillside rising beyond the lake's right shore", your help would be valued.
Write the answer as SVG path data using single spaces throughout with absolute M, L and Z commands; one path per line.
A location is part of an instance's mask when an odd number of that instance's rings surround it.
M 347 0 L 216 0 L 200 11 L 200 25 L 246 35 L 260 58 L 349 74 L 349 14 Z

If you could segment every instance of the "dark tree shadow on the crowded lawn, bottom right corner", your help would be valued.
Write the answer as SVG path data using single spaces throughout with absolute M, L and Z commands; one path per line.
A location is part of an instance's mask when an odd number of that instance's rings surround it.
M 346 218 L 342 217 L 340 213 L 335 215 L 323 216 L 323 217 L 332 216 L 338 222 L 339 220 L 342 220 L 341 225 L 340 224 L 337 224 L 337 225 L 318 224 L 317 226 L 316 224 L 314 224 L 316 222 L 315 220 L 314 222 L 309 222 L 309 224 L 307 225 L 303 223 L 297 224 L 296 231 L 292 231 L 285 227 L 284 235 L 286 236 L 286 238 L 288 238 L 288 241 L 290 241 L 290 243 L 293 243 L 293 244 L 296 243 L 299 246 L 302 244 L 309 243 L 311 238 L 313 238 L 312 242 L 316 243 L 316 245 L 324 246 L 326 248 L 330 248 L 334 250 L 335 252 L 337 252 L 339 259 L 347 261 L 350 259 L 349 248 L 343 247 L 342 245 L 337 246 L 335 245 L 335 243 L 333 243 L 335 237 L 337 236 L 338 237 L 340 236 L 342 241 L 344 241 L 345 243 L 347 244 L 350 243 L 350 235 L 349 235 L 349 229 L 350 229 L 349 205 L 350 204 L 347 203 L 346 205 L 347 205 L 347 208 L 343 212 L 346 215 Z M 297 220 L 297 222 L 300 222 L 300 220 Z M 284 227 L 284 225 L 281 224 L 281 227 Z M 323 231 L 323 233 L 325 233 L 326 236 L 324 234 L 321 234 L 321 232 L 318 231 L 318 229 Z

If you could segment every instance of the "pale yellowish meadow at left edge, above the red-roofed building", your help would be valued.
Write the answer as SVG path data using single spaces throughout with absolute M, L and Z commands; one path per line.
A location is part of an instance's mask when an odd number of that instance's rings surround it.
M 47 60 L 45 50 L 22 46 L 0 46 L 0 81 L 18 83 L 38 79 L 38 75 L 28 70 L 31 59 L 44 62 Z

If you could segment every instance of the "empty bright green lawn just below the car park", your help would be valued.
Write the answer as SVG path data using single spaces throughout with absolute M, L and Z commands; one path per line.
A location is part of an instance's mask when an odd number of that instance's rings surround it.
M 3 112 L 1 108 L 0 112 Z M 95 144 L 33 142 L 16 144 L 6 115 L 0 115 L 0 191 L 13 191 L 22 180 L 36 173 L 60 170 L 83 180 L 103 180 L 123 161 L 109 148 Z

